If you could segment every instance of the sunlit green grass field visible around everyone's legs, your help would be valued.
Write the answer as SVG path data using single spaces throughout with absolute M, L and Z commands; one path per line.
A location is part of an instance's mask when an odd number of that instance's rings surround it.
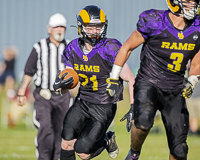
M 125 98 L 128 96 L 125 96 Z M 110 127 L 116 132 L 116 140 L 119 146 L 119 155 L 116 160 L 123 160 L 130 147 L 130 133 L 126 132 L 125 122 L 119 122 L 122 116 L 129 110 L 128 101 L 119 103 L 114 124 Z M 155 131 L 158 133 L 154 133 Z M 34 137 L 36 130 L 26 129 L 23 124 L 16 128 L 0 128 L 0 160 L 36 160 Z M 189 154 L 188 160 L 200 159 L 200 137 L 188 136 Z M 169 151 L 167 140 L 160 119 L 155 120 L 154 128 L 148 135 L 142 149 L 140 160 L 168 160 Z M 95 160 L 109 160 L 106 151 Z M 80 160 L 77 157 L 77 160 Z

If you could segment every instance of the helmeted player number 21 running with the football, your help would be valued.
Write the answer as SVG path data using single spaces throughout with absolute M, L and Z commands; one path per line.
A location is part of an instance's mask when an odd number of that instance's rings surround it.
M 80 88 L 63 122 L 60 160 L 75 160 L 75 152 L 81 159 L 92 159 L 104 149 L 111 158 L 116 158 L 119 149 L 115 133 L 106 131 L 115 116 L 116 102 L 123 99 L 123 80 L 128 82 L 130 101 L 133 103 L 134 75 L 125 64 L 117 81 L 118 94 L 109 96 L 106 79 L 121 43 L 106 38 L 108 21 L 103 10 L 97 6 L 83 8 L 77 17 L 77 24 L 80 38 L 72 40 L 65 48 L 63 60 L 66 66 L 78 73 Z M 108 83 L 112 88 L 112 79 L 108 79 Z M 55 83 L 54 89 L 59 89 Z

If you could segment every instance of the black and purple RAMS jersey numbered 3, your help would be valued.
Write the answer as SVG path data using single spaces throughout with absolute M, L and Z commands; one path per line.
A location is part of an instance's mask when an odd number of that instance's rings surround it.
M 137 30 L 146 42 L 136 80 L 149 81 L 163 89 L 179 89 L 183 88 L 188 60 L 199 51 L 199 16 L 180 31 L 173 26 L 168 13 L 152 9 L 139 17 Z

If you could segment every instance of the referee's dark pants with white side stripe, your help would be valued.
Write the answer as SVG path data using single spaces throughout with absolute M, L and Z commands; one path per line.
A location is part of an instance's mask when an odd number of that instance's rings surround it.
M 70 93 L 61 95 L 52 93 L 50 100 L 34 91 L 33 123 L 38 130 L 35 137 L 38 160 L 58 160 L 61 148 L 61 129 L 65 113 L 69 109 Z

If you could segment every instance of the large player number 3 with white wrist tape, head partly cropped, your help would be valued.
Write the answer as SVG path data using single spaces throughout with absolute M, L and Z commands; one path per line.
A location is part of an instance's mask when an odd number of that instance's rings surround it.
M 139 159 L 157 110 L 161 112 L 166 130 L 169 159 L 187 159 L 189 114 L 185 98 L 191 96 L 200 75 L 200 17 L 196 15 L 199 0 L 166 2 L 169 10 L 151 9 L 140 14 L 137 29 L 122 45 L 110 74 L 117 83 L 131 51 L 143 44 L 134 84 L 134 107 L 123 118 L 134 113 L 131 149 L 126 160 Z M 190 59 L 189 78 L 184 83 L 186 64 Z M 112 89 L 117 87 L 112 85 Z M 110 85 L 107 89 L 111 89 Z

